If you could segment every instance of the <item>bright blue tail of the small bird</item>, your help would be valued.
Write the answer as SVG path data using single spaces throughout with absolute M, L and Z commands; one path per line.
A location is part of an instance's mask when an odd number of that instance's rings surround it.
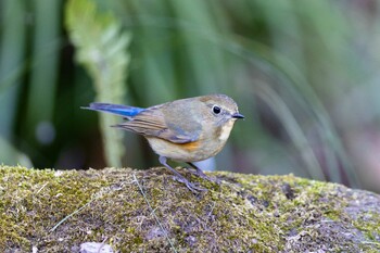
M 113 113 L 125 117 L 132 117 L 141 113 L 142 111 L 144 111 L 144 109 L 141 109 L 141 107 L 134 107 L 134 106 L 112 104 L 112 103 L 90 103 L 90 106 L 81 107 L 81 109 Z

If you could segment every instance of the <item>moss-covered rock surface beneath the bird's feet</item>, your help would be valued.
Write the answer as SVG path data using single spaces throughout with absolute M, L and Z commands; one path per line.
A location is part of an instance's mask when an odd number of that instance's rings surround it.
M 380 252 L 380 197 L 290 176 L 0 167 L 0 252 Z M 149 204 L 148 204 L 149 203 Z

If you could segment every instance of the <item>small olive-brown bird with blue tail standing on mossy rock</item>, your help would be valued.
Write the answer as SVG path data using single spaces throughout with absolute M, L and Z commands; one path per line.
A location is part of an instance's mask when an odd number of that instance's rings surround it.
M 147 109 L 111 103 L 91 103 L 83 109 L 113 113 L 128 119 L 114 127 L 145 137 L 160 155 L 160 163 L 194 192 L 204 189 L 188 181 L 166 160 L 186 162 L 197 169 L 198 176 L 211 180 L 192 162 L 216 155 L 226 144 L 235 122 L 244 118 L 237 103 L 226 94 L 180 99 Z

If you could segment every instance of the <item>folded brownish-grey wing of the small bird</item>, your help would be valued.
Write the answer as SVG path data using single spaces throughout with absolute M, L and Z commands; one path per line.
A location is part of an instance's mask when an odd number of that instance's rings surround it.
M 198 130 L 189 130 L 188 127 L 182 127 L 182 122 L 178 124 L 167 123 L 161 110 L 151 107 L 139 113 L 130 121 L 116 125 L 116 127 L 143 136 L 157 137 L 175 143 L 188 143 L 198 140 L 201 128 L 197 127 Z

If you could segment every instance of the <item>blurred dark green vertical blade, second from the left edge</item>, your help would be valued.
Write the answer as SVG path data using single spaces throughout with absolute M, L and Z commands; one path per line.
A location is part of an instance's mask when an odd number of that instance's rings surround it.
M 61 1 L 33 1 L 35 30 L 31 38 L 30 85 L 25 109 L 25 126 L 22 130 L 30 143 L 39 146 L 35 139 L 36 129 L 51 128 L 56 103 L 56 86 L 60 60 L 60 7 Z M 43 98 L 43 99 L 41 99 Z M 48 134 L 46 134 L 48 135 Z M 51 136 L 40 136 L 42 143 L 52 141 Z

